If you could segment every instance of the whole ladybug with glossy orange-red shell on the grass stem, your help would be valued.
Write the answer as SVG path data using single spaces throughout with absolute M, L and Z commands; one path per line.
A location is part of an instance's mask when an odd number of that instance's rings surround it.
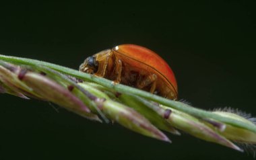
M 135 44 L 122 44 L 86 58 L 79 71 L 177 99 L 172 69 L 156 52 Z

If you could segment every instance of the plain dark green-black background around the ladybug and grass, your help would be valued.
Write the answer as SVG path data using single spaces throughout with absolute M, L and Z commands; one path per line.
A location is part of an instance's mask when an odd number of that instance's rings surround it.
M 139 44 L 170 64 L 180 99 L 256 116 L 252 2 L 8 1 L 0 4 L 0 52 L 77 69 L 100 50 Z M 0 159 L 253 159 L 187 134 L 168 134 L 167 144 L 46 102 L 0 101 Z

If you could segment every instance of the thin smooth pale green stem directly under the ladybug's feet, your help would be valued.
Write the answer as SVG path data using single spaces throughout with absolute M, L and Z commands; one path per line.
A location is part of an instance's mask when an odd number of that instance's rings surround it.
M 59 71 L 61 73 L 65 73 L 67 75 L 71 75 L 73 77 L 83 79 L 86 81 L 92 81 L 94 83 L 98 83 L 104 87 L 112 88 L 117 92 L 120 93 L 130 93 L 134 95 L 139 95 L 141 97 L 144 97 L 146 99 L 153 100 L 154 102 L 158 102 L 159 104 L 162 104 L 164 106 L 168 106 L 170 108 L 174 108 L 176 110 L 179 110 L 181 112 L 185 112 L 187 114 L 191 114 L 197 118 L 207 118 L 207 119 L 214 119 L 220 122 L 224 122 L 226 124 L 230 124 L 232 126 L 236 126 L 238 128 L 244 128 L 247 130 L 251 130 L 252 132 L 256 133 L 256 126 L 253 123 L 243 123 L 239 120 L 235 120 L 233 118 L 227 118 L 225 116 L 220 116 L 220 114 L 216 114 L 214 112 L 207 112 L 205 110 L 201 110 L 198 108 L 193 108 L 187 104 L 184 104 L 182 102 L 176 102 L 172 101 L 170 99 L 166 99 L 164 97 L 160 97 L 158 95 L 154 95 L 152 93 L 148 93 L 146 91 L 141 91 L 139 89 L 135 89 L 133 87 L 128 87 L 126 85 L 117 84 L 114 85 L 112 81 L 109 81 L 107 79 L 103 79 L 100 77 L 95 77 L 93 75 L 89 75 L 86 73 L 82 73 L 79 71 L 76 71 L 74 69 L 69 69 L 67 67 L 61 67 L 60 65 L 54 65 L 52 63 L 46 63 L 43 61 L 36 61 L 32 60 L 30 58 L 18 58 L 14 56 L 5 56 L 0 54 L 0 59 L 3 61 L 9 61 L 11 63 L 15 63 L 17 65 L 30 65 L 30 66 L 43 66 L 43 67 L 49 67 L 51 69 L 54 69 L 55 71 Z

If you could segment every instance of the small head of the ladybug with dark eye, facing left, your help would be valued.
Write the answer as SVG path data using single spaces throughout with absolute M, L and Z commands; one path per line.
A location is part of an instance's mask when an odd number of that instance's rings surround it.
M 84 63 L 80 65 L 79 71 L 89 73 L 89 74 L 94 74 L 98 71 L 98 61 L 96 61 L 95 56 L 89 56 L 86 58 Z

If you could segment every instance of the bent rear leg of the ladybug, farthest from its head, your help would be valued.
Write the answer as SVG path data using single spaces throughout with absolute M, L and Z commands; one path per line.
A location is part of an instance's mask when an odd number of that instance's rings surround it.
M 137 87 L 139 89 L 142 89 L 143 87 L 146 87 L 146 86 L 152 84 L 152 86 L 150 88 L 150 92 L 154 93 L 154 91 L 156 89 L 156 79 L 157 79 L 157 76 L 155 74 L 148 75 L 146 78 L 141 79 L 141 81 L 139 81 L 139 83 L 137 83 Z

